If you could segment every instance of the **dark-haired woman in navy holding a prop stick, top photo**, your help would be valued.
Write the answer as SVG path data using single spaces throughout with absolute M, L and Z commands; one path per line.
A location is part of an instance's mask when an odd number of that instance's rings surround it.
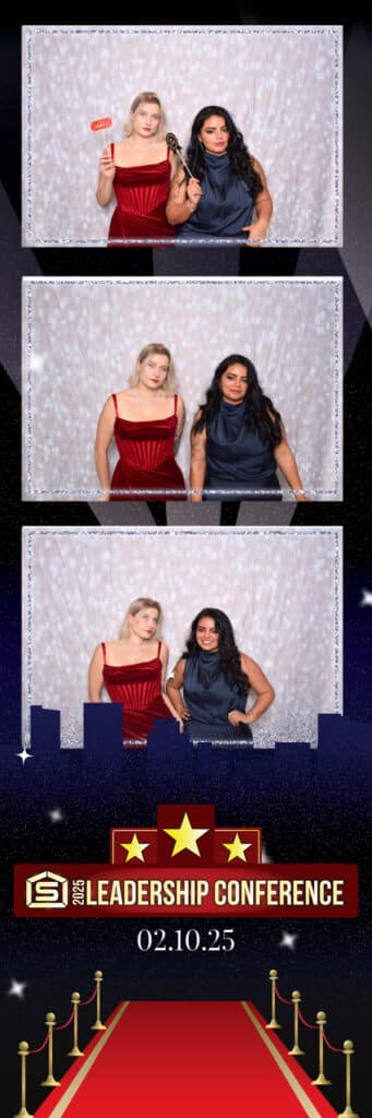
M 241 237 L 257 246 L 273 212 L 265 172 L 249 154 L 226 108 L 208 105 L 197 114 L 187 151 L 192 171 L 175 174 L 166 203 L 181 239 Z

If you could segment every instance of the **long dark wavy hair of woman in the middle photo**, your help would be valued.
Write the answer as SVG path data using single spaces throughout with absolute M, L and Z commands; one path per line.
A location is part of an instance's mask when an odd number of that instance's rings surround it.
M 207 389 L 206 404 L 200 405 L 201 415 L 193 424 L 192 433 L 198 435 L 206 426 L 208 428 L 217 414 L 221 402 L 220 380 L 230 364 L 242 364 L 247 369 L 248 389 L 245 411 L 247 427 L 257 430 L 263 443 L 268 446 L 278 446 L 283 438 L 280 414 L 274 407 L 270 397 L 263 392 L 252 361 L 249 361 L 248 357 L 242 357 L 241 353 L 230 353 L 217 366 L 213 380 Z

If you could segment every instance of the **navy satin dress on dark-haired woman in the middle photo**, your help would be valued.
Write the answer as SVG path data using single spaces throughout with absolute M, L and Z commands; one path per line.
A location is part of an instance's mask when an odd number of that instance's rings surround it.
M 247 427 L 245 417 L 246 400 L 241 404 L 221 400 L 207 427 L 204 487 L 228 490 L 231 496 L 236 490 L 247 490 L 248 494 L 249 490 L 273 490 L 273 495 L 256 493 L 249 500 L 282 501 L 273 449 L 263 443 L 258 430 Z M 204 493 L 204 501 L 218 500 L 218 494 Z

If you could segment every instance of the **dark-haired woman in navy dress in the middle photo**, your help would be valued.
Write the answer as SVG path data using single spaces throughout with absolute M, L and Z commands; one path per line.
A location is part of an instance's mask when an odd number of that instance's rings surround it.
M 231 353 L 217 367 L 193 420 L 192 501 L 219 500 L 223 490 L 244 491 L 250 501 L 282 501 L 277 466 L 296 501 L 307 501 L 279 411 L 263 392 L 252 362 Z M 221 523 L 233 523 L 239 501 L 222 505 Z

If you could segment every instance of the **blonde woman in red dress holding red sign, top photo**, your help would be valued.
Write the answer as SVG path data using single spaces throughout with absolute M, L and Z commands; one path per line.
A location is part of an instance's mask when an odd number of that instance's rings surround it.
M 164 113 L 156 93 L 134 98 L 124 139 L 105 148 L 99 160 L 96 199 L 116 209 L 108 231 L 108 247 L 126 240 L 169 241 L 174 233 L 165 206 L 177 161 L 166 146 Z

